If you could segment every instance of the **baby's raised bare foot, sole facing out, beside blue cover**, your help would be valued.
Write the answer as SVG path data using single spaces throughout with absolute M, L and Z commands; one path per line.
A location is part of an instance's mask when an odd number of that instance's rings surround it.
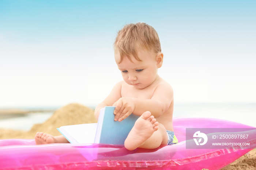
M 158 130 L 158 121 L 150 112 L 144 112 L 136 120 L 132 130 L 125 139 L 124 146 L 128 150 L 134 150 L 142 146 L 155 131 Z

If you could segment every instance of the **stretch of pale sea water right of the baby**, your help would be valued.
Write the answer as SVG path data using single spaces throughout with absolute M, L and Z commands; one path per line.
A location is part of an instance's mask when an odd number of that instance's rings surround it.
M 174 104 L 173 117 L 209 117 L 256 127 L 256 103 Z

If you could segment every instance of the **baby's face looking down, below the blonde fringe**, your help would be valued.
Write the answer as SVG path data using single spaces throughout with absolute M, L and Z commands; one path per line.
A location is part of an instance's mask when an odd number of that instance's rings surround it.
M 144 89 L 157 78 L 157 54 L 148 50 L 140 50 L 137 55 L 142 61 L 138 61 L 131 56 L 131 61 L 124 57 L 123 61 L 118 63 L 120 61 L 120 54 L 119 51 L 116 51 L 115 60 L 124 81 L 137 89 Z

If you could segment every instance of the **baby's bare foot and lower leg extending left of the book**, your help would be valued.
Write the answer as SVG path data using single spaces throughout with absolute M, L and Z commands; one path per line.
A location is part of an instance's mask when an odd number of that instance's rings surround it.
M 35 143 L 36 144 L 47 144 L 47 143 L 69 143 L 69 142 L 62 135 L 52 136 L 49 134 L 45 134 L 43 132 L 37 132 L 35 134 Z

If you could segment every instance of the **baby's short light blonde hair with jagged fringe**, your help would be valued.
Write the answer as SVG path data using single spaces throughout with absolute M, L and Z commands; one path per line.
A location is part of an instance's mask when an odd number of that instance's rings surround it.
M 114 42 L 114 50 L 120 53 L 120 62 L 124 57 L 131 61 L 131 55 L 141 61 L 137 50 L 142 48 L 155 53 L 161 52 L 161 44 L 155 29 L 146 23 L 127 24 L 122 28 Z

